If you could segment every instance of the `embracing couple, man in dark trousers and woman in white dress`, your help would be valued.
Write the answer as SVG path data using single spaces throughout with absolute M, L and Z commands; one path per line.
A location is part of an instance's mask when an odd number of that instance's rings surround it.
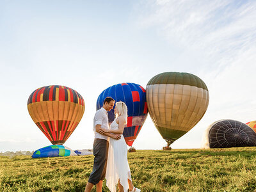
M 91 191 L 96 185 L 97 192 L 102 191 L 102 182 L 106 178 L 109 190 L 140 192 L 134 188 L 131 179 L 131 171 L 127 161 L 127 146 L 122 135 L 124 125 L 127 124 L 127 106 L 124 102 L 116 102 L 116 118 L 108 125 L 108 111 L 113 109 L 115 100 L 106 97 L 103 107 L 94 116 L 93 130 L 95 140 L 93 143 L 94 164 L 86 185 L 85 192 Z

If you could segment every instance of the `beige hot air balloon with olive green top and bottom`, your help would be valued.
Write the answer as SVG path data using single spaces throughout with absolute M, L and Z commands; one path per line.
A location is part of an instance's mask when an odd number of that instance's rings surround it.
M 148 112 L 167 148 L 192 129 L 204 116 L 209 92 L 199 77 L 181 72 L 164 72 L 148 81 Z

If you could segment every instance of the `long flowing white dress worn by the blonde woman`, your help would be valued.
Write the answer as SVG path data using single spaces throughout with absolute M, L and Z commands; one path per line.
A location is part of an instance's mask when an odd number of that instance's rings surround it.
M 116 120 L 110 125 L 110 129 L 118 129 Z M 132 179 L 127 161 L 127 145 L 122 134 L 120 140 L 109 138 L 106 184 L 111 192 L 116 191 L 119 179 L 124 191 L 127 191 L 129 189 L 127 179 Z

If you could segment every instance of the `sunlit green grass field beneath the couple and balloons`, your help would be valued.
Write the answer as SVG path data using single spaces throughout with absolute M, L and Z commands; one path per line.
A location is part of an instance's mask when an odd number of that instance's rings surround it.
M 128 161 L 141 191 L 256 191 L 256 147 L 138 150 Z M 92 155 L 2 156 L 0 191 L 84 191 L 92 166 Z

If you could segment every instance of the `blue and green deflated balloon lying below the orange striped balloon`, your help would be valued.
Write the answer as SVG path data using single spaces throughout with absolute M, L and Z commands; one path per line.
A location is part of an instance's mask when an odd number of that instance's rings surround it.
M 77 156 L 77 154 L 71 148 L 65 147 L 63 145 L 50 145 L 36 150 L 33 153 L 32 158 L 67 156 Z

